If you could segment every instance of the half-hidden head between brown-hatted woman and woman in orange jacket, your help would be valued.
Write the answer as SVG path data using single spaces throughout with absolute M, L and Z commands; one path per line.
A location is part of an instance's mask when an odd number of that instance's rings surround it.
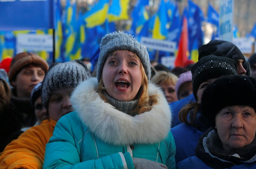
M 35 115 L 39 124 L 41 124 L 43 120 L 47 119 L 46 109 L 44 108 L 41 100 L 41 94 L 42 82 L 39 82 L 32 90 L 30 96 L 31 105 L 34 108 Z

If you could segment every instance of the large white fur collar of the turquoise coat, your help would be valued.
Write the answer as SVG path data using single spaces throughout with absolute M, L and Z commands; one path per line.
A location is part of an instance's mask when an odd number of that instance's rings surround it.
M 167 137 L 171 112 L 162 91 L 149 84 L 149 95 L 160 94 L 159 104 L 149 112 L 130 116 L 104 102 L 96 92 L 96 78 L 87 79 L 76 87 L 71 103 L 81 121 L 98 138 L 115 145 L 157 143 Z

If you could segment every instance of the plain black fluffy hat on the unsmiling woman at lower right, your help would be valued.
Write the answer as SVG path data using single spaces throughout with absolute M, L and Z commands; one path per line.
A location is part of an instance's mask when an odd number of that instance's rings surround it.
M 217 113 L 227 106 L 245 105 L 256 110 L 256 79 L 243 75 L 220 77 L 206 87 L 200 109 L 212 127 Z

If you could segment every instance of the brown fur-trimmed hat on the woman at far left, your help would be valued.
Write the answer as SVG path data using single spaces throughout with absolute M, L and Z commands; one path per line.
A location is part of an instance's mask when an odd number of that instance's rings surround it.
M 40 56 L 37 56 L 36 54 L 33 54 L 31 52 L 22 52 L 22 53 L 16 54 L 10 63 L 10 70 L 8 72 L 9 82 L 11 83 L 13 81 L 13 77 L 16 76 L 19 70 L 21 70 L 24 66 L 32 63 L 41 64 L 42 69 L 44 70 L 45 73 L 49 68 L 47 62 L 44 59 L 42 59 Z

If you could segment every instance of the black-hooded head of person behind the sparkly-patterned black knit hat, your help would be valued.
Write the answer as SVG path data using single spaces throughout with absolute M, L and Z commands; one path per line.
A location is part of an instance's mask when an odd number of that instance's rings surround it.
M 208 44 L 199 47 L 198 54 L 198 60 L 210 54 L 233 59 L 237 64 L 238 74 L 246 74 L 245 57 L 240 49 L 229 41 L 212 40 Z

